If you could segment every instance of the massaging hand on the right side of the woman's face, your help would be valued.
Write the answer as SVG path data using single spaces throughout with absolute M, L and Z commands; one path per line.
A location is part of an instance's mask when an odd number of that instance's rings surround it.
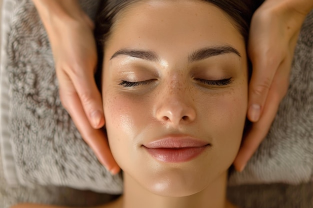
M 265 0 L 251 20 L 248 55 L 252 62 L 247 117 L 253 122 L 234 161 L 242 171 L 274 120 L 287 92 L 300 27 L 313 0 Z

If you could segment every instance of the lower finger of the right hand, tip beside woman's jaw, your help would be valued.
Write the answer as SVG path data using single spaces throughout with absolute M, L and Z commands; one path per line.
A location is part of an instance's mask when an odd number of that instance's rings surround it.
M 251 130 L 245 136 L 234 160 L 233 165 L 237 171 L 241 172 L 244 169 L 247 161 L 252 157 L 259 144 L 265 138 L 275 118 L 280 100 L 280 96 L 277 96 L 273 91 L 269 91 L 261 118 L 252 124 Z

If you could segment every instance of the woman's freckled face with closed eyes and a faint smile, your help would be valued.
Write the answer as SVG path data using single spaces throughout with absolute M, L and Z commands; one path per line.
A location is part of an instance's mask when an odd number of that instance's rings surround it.
M 118 15 L 102 94 L 112 154 L 145 189 L 187 196 L 233 162 L 247 108 L 244 40 L 198 0 L 145 0 Z

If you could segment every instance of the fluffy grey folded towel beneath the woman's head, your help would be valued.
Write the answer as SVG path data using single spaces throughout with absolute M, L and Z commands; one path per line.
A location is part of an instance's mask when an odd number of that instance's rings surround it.
M 61 106 L 51 50 L 31 0 L 4 1 L 15 6 L 5 34 L 3 62 L 9 80 L 9 135 L 2 134 L 0 140 L 12 149 L 10 171 L 15 171 L 17 183 L 121 193 L 120 176 L 110 176 L 98 163 Z M 89 14 L 96 11 L 97 2 L 81 1 Z M 231 185 L 298 184 L 312 179 L 312 23 L 313 12 L 301 30 L 289 91 L 272 128 L 245 171 L 230 176 Z M 12 166 L 12 160 L 6 162 L 4 169 Z

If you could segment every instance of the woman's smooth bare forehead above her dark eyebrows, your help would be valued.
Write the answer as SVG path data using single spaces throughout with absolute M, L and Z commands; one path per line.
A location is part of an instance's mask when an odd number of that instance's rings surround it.
M 118 14 L 107 45 L 111 42 L 118 49 L 162 46 L 168 51 L 244 44 L 230 17 L 200 0 L 136 1 Z

